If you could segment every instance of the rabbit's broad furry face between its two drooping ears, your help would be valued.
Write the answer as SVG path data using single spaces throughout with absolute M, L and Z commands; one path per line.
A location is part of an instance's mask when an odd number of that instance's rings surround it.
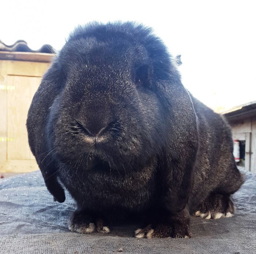
M 71 36 L 58 57 L 65 79 L 52 107 L 61 161 L 87 157 L 81 164 L 88 169 L 104 162 L 132 168 L 161 153 L 168 131 L 163 83 L 174 68 L 169 60 L 169 70 L 157 69 L 159 54 L 169 59 L 149 31 L 144 38 L 125 29 Z

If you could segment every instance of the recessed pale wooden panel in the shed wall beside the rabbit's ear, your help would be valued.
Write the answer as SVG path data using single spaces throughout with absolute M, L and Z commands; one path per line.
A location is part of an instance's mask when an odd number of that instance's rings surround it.
M 26 119 L 41 78 L 8 76 L 7 82 L 15 87 L 15 90 L 7 91 L 7 159 L 31 160 L 34 156 L 29 148 Z

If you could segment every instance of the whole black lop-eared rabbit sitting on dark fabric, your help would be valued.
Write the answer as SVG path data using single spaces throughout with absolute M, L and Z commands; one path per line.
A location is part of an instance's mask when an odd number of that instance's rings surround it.
M 189 238 L 189 213 L 230 217 L 243 183 L 227 122 L 182 85 L 162 41 L 135 23 L 78 27 L 34 95 L 27 130 L 46 187 L 76 200 L 69 229 Z

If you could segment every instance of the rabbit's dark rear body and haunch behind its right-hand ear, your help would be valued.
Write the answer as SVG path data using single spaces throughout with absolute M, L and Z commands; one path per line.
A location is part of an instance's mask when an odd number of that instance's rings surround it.
M 197 99 L 193 98 L 192 101 L 198 118 L 199 150 L 195 163 L 196 180 L 188 202 L 191 213 L 200 210 L 209 195 L 229 196 L 236 192 L 243 182 L 233 157 L 233 140 L 229 125 L 219 114 Z M 225 214 L 228 211 L 222 209 L 211 212 Z M 234 210 L 232 212 L 234 213 Z M 203 217 L 210 216 L 206 211 L 204 215 Z M 214 215 L 212 216 L 214 218 Z

